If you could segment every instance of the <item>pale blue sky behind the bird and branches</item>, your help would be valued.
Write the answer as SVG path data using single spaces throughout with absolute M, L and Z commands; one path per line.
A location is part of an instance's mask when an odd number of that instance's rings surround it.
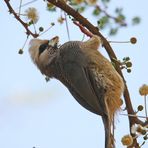
M 19 1 L 12 2 L 17 8 Z M 112 44 L 119 59 L 129 56 L 132 60 L 132 73 L 125 72 L 125 77 L 135 110 L 144 102 L 139 95 L 139 87 L 148 84 L 147 5 L 146 0 L 112 0 L 111 9 L 123 6 L 128 20 L 138 15 L 142 21 L 138 26 L 121 29 L 112 38 L 103 32 L 109 40 L 124 41 L 132 36 L 138 39 L 136 45 Z M 0 1 L 0 6 L 0 148 L 103 148 L 101 118 L 81 107 L 59 81 L 53 79 L 46 83 L 30 60 L 28 45 L 23 55 L 18 54 L 26 37 L 24 28 L 8 14 L 3 1 Z M 38 26 L 48 26 L 60 15 L 60 10 L 57 14 L 43 11 L 45 5 L 41 1 L 31 6 L 39 10 Z M 84 15 L 95 24 L 95 18 L 89 13 Z M 81 40 L 83 35 L 79 29 L 69 24 L 71 40 Z M 64 43 L 68 41 L 65 28 L 65 25 L 57 24 L 41 38 L 50 39 L 58 35 L 60 43 Z M 105 54 L 104 49 L 100 51 Z M 126 134 L 129 134 L 127 117 L 118 115 L 115 131 L 117 148 L 123 147 L 120 141 Z M 143 148 L 147 147 L 148 142 Z

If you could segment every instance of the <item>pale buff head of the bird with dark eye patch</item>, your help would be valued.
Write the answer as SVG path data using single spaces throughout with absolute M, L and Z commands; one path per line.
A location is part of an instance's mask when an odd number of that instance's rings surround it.
M 41 71 L 56 56 L 58 42 L 58 36 L 51 40 L 32 39 L 30 41 L 29 53 L 31 59 Z

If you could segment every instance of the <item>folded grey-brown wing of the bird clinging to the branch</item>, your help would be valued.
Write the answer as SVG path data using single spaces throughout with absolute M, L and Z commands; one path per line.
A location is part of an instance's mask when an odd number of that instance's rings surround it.
M 96 85 L 94 75 L 88 69 L 87 59 L 77 42 L 61 47 L 57 58 L 59 80 L 64 83 L 74 98 L 89 111 L 102 115 L 105 89 Z

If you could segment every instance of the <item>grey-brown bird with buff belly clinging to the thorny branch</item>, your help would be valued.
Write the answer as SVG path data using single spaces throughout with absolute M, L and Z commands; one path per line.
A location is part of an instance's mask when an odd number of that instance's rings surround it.
M 86 41 L 68 41 L 62 45 L 55 36 L 50 40 L 32 39 L 29 53 L 43 75 L 59 80 L 80 105 L 102 117 L 105 148 L 112 148 L 112 121 L 120 110 L 124 82 L 98 50 L 101 44 L 97 35 Z

